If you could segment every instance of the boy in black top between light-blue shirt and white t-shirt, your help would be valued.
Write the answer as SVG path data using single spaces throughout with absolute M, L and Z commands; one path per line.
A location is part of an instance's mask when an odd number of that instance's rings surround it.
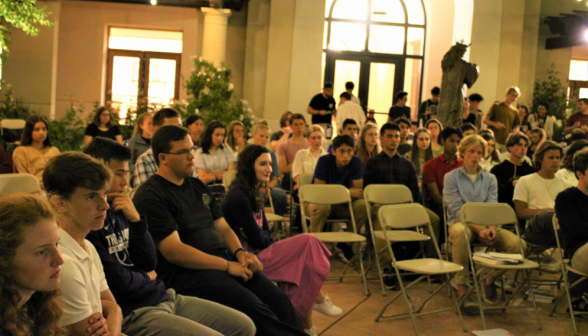
M 513 209 L 514 188 L 523 176 L 533 174 L 535 168 L 524 160 L 527 156 L 529 138 L 523 133 L 512 133 L 506 139 L 506 150 L 510 156 L 494 166 L 490 172 L 498 182 L 498 202 L 507 203 Z

